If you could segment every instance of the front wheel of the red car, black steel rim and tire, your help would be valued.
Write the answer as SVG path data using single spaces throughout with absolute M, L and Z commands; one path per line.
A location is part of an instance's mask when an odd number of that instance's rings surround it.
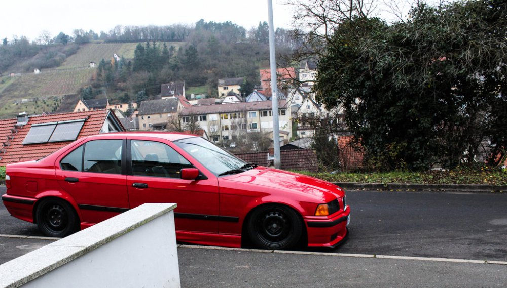
M 298 214 L 282 205 L 263 205 L 248 219 L 250 240 L 262 249 L 291 249 L 299 242 L 302 230 Z

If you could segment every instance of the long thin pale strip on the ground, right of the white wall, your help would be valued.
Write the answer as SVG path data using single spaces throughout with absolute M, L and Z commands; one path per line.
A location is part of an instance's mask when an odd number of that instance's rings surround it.
M 452 263 L 470 263 L 470 264 L 507 265 L 507 261 L 470 260 L 470 259 L 438 258 L 438 257 L 412 257 L 412 256 L 392 256 L 392 255 L 374 255 L 374 254 L 349 254 L 349 253 L 332 253 L 332 252 L 311 252 L 311 251 L 258 250 L 258 249 L 224 248 L 224 247 L 199 246 L 199 245 L 178 245 L 178 247 L 181 247 L 181 248 L 197 248 L 197 249 L 211 249 L 211 250 L 248 251 L 248 252 L 261 252 L 261 253 L 299 254 L 299 255 L 322 255 L 322 256 L 333 256 L 333 257 L 379 258 L 379 259 L 395 259 L 395 260 L 415 260 L 415 261 L 434 261 L 434 262 L 452 262 Z

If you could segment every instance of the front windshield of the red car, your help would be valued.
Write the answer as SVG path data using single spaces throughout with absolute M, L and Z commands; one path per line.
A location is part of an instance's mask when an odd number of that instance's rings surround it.
M 242 169 L 244 169 L 245 161 L 236 158 L 204 138 L 186 138 L 175 141 L 174 144 L 189 153 L 215 175 L 225 175 L 224 173 L 229 171 L 237 171 L 238 173 L 244 171 Z

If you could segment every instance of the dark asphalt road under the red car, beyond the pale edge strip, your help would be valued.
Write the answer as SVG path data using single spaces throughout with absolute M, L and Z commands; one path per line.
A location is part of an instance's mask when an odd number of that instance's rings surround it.
M 347 202 L 348 240 L 312 251 L 507 261 L 507 194 L 347 191 Z M 36 225 L 11 217 L 3 203 L 0 234 L 43 236 Z M 0 263 L 12 249 L 19 256 L 47 241 L 0 237 Z

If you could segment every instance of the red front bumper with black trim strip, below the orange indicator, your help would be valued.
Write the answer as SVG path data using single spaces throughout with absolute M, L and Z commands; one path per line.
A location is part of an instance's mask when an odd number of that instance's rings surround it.
M 332 218 L 318 219 L 311 217 L 305 219 L 308 231 L 308 247 L 333 248 L 346 240 L 348 236 L 347 221 L 350 217 L 350 208 Z

